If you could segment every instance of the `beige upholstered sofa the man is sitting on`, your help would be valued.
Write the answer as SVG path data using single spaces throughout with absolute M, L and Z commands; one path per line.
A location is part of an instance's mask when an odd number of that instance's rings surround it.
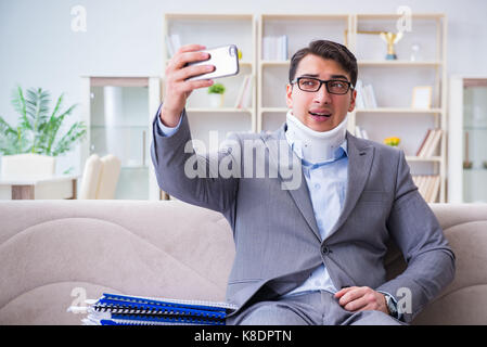
M 454 281 L 414 324 L 487 324 L 487 205 L 431 205 Z M 79 324 L 103 292 L 223 300 L 234 257 L 218 213 L 182 202 L 0 202 L 0 324 Z M 402 258 L 385 259 L 390 277 Z

